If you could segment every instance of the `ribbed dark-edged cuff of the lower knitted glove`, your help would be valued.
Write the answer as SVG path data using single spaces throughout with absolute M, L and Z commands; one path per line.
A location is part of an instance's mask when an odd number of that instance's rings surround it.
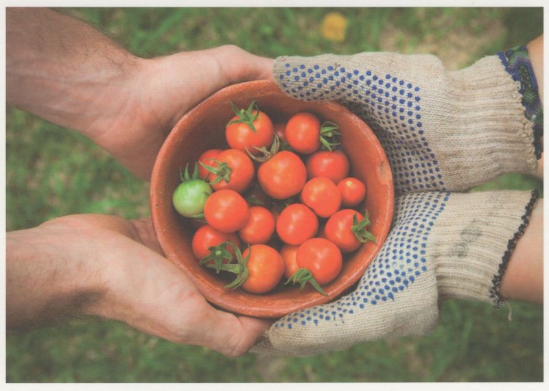
M 452 195 L 428 244 L 439 299 L 504 304 L 502 278 L 537 197 L 537 191 Z

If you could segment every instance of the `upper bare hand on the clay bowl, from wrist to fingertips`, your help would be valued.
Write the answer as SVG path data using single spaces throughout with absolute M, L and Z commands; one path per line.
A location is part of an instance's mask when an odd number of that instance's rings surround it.
M 271 68 L 272 60 L 232 45 L 139 60 L 129 88 L 113 91 L 117 108 L 95 124 L 92 139 L 148 179 L 165 137 L 185 112 L 229 84 L 272 78 Z

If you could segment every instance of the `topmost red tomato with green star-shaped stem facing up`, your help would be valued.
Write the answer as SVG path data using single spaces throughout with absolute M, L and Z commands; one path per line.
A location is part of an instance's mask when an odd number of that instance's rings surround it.
M 253 110 L 254 105 L 252 102 L 248 110 L 240 110 L 231 118 L 225 128 L 225 137 L 231 148 L 242 152 L 248 150 L 250 154 L 257 155 L 260 152 L 255 147 L 268 147 L 274 138 L 274 130 L 268 115 L 257 109 Z M 257 117 L 253 119 L 255 115 Z

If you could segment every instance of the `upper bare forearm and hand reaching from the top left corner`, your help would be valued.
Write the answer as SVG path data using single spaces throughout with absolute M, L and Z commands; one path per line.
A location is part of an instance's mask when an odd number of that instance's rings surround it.
M 7 9 L 6 54 L 8 105 L 81 132 L 144 179 L 187 110 L 226 85 L 272 77 L 272 60 L 232 45 L 139 58 L 43 8 Z

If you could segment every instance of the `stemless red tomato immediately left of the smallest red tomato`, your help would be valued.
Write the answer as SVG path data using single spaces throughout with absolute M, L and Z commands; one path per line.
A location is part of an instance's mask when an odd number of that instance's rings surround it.
M 341 206 L 341 193 L 334 182 L 323 176 L 311 178 L 301 191 L 301 202 L 320 217 L 330 217 Z

